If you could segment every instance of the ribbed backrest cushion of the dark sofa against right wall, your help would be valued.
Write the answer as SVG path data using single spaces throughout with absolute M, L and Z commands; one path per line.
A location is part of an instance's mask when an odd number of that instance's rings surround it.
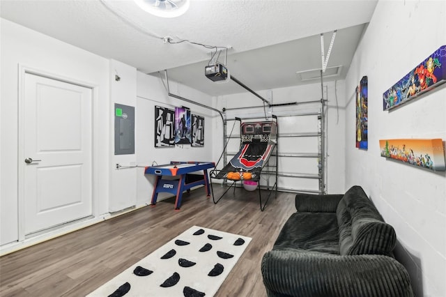
M 360 186 L 353 186 L 339 201 L 339 253 L 391 255 L 397 236 L 386 224 Z

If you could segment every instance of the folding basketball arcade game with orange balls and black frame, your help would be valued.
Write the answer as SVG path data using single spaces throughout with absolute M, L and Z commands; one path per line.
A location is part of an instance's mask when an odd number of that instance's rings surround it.
M 210 172 L 210 188 L 215 204 L 226 195 L 232 187 L 236 187 L 237 181 L 256 181 L 259 189 L 260 209 L 263 211 L 272 195 L 277 195 L 277 116 L 272 116 L 271 121 L 253 121 L 241 123 L 240 118 L 240 150 L 223 169 L 213 169 Z M 224 148 L 225 151 L 226 148 Z M 223 152 L 224 153 L 224 152 Z M 270 156 L 275 155 L 275 164 L 270 165 Z M 221 157 L 220 157 L 221 159 Z M 218 164 L 217 164 L 218 165 Z M 271 170 L 272 169 L 272 170 Z M 262 202 L 261 175 L 275 176 L 275 183 L 270 188 L 269 178 L 266 189 L 270 192 L 266 201 Z M 216 200 L 213 192 L 212 179 L 233 181 L 229 188 Z

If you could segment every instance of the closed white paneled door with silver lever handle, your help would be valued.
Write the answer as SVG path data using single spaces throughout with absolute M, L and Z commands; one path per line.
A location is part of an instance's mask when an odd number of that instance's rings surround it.
M 92 90 L 26 73 L 21 181 L 24 234 L 92 213 Z

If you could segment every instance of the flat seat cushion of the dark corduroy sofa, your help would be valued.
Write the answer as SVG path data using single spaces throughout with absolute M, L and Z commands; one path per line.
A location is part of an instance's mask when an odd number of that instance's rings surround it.
M 293 213 L 286 221 L 273 250 L 339 254 L 336 213 Z

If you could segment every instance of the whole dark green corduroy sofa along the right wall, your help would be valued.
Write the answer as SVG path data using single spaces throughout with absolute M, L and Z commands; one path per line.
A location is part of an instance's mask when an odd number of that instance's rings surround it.
M 413 296 L 393 256 L 397 236 L 360 186 L 344 195 L 298 194 L 263 255 L 268 296 Z

